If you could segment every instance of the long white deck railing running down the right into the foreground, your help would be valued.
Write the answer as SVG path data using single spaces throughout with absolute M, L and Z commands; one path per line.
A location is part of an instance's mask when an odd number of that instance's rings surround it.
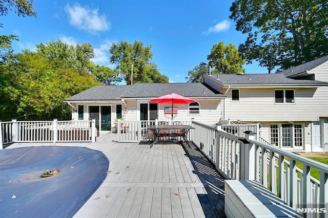
M 327 206 L 327 165 L 260 142 L 254 132 L 238 137 L 222 131 L 220 125 L 213 127 L 195 121 L 192 125 L 193 142 L 224 178 L 256 180 L 295 210 L 301 205 Z M 313 169 L 320 171 L 319 181 L 310 176 Z

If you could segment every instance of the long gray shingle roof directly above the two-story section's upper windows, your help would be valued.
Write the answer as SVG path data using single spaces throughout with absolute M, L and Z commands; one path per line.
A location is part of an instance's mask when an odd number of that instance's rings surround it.
M 208 76 L 217 79 L 216 74 Z M 219 74 L 218 78 L 224 85 L 328 85 L 322 81 L 291 79 L 284 74 Z

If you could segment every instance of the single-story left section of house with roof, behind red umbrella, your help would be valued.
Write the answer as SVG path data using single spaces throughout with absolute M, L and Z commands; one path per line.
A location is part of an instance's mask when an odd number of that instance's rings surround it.
M 72 120 L 96 119 L 96 127 L 109 131 L 116 119 L 129 121 L 170 121 L 172 104 L 150 103 L 149 100 L 176 93 L 197 101 L 191 104 L 175 104 L 173 119 L 215 124 L 223 108 L 220 102 L 224 94 L 205 83 L 135 83 L 133 85 L 98 85 L 64 102 L 73 107 Z

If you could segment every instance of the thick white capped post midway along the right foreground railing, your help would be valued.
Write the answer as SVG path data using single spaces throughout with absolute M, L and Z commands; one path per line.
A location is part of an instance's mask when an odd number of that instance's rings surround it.
M 256 133 L 245 131 L 245 140 L 240 144 L 240 171 L 241 180 L 255 180 L 255 145 L 249 140 L 256 139 Z

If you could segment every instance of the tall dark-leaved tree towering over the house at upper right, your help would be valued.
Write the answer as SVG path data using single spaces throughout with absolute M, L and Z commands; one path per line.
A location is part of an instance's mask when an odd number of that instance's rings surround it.
M 230 11 L 248 63 L 286 69 L 328 54 L 326 1 L 236 0 Z

